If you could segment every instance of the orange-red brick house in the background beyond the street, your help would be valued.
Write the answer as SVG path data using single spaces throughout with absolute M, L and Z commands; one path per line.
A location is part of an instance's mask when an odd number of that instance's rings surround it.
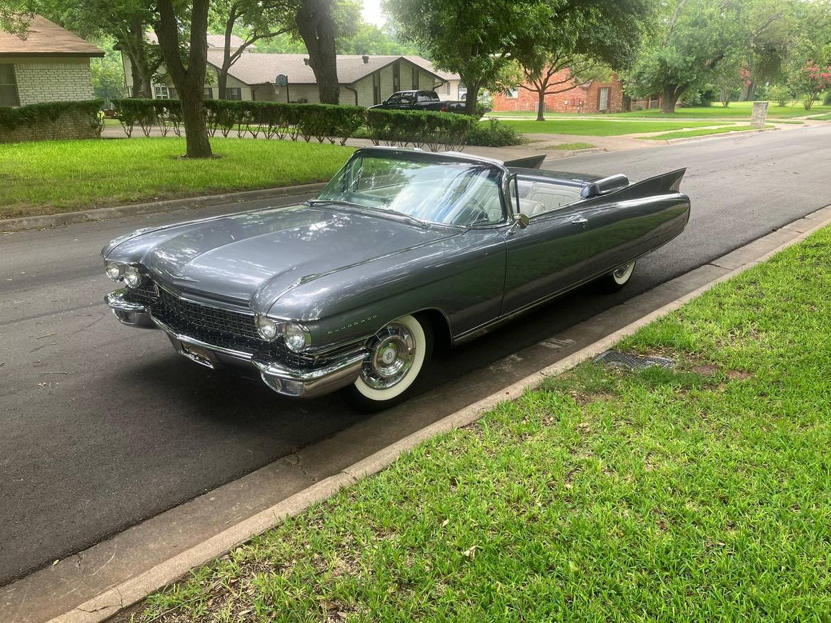
M 552 84 L 568 79 L 568 69 L 558 71 L 551 78 Z M 531 85 L 529 85 L 531 86 Z M 567 86 L 551 88 L 556 91 Z M 524 88 L 516 88 L 508 94 L 494 94 L 493 110 L 508 112 L 511 110 L 536 111 L 538 94 Z M 545 96 L 545 110 L 550 112 L 618 112 L 629 110 L 629 101 L 623 95 L 623 85 L 617 76 L 610 82 L 588 81 L 578 86 Z

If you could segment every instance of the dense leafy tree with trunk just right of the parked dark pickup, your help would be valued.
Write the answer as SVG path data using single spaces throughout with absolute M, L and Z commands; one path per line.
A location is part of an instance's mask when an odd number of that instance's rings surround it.
M 465 112 L 473 115 L 479 90 L 494 85 L 509 64 L 520 35 L 542 36 L 556 19 L 546 0 L 385 0 L 406 40 L 440 69 L 458 73 L 467 87 Z

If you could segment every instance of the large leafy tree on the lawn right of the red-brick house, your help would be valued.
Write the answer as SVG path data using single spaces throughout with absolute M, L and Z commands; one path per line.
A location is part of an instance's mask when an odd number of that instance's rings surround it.
M 739 0 L 671 0 L 661 4 L 661 27 L 644 43 L 627 89 L 636 96 L 661 92 L 661 111 L 675 112 L 685 91 L 712 82 L 714 71 L 746 37 Z

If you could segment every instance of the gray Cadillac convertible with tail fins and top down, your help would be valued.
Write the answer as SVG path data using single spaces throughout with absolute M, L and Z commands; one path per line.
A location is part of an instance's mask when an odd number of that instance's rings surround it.
M 434 341 L 470 340 L 586 282 L 626 285 L 686 226 L 683 175 L 630 184 L 357 150 L 317 199 L 116 238 L 101 254 L 126 287 L 106 302 L 191 361 L 379 410 L 410 394 Z

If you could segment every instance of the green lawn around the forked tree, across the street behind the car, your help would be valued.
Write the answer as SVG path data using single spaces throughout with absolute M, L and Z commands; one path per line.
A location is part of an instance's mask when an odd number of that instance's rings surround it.
M 184 139 L 0 145 L 0 218 L 325 181 L 351 147 L 214 138 L 221 158 L 186 160 Z

